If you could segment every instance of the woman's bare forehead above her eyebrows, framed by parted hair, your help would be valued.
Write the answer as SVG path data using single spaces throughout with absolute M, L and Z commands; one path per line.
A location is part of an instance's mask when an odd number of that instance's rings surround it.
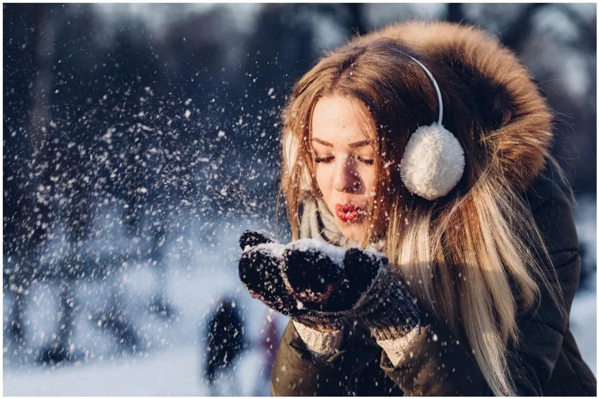
M 346 144 L 373 139 L 376 129 L 364 103 L 351 96 L 332 95 L 314 105 L 310 134 L 332 144 Z

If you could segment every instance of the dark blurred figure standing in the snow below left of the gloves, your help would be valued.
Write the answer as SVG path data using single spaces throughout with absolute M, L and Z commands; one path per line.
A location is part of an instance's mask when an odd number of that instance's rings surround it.
M 228 374 L 247 349 L 244 330 L 235 301 L 225 297 L 214 309 L 207 329 L 204 378 L 211 396 L 240 394 L 236 379 Z

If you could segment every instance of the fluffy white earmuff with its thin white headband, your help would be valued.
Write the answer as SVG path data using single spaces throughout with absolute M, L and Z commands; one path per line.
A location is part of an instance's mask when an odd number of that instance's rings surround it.
M 401 159 L 400 174 L 410 193 L 427 200 L 443 197 L 458 184 L 464 173 L 464 149 L 453 133 L 445 129 L 443 100 L 437 81 L 422 63 L 411 57 L 431 79 L 439 102 L 438 121 L 429 126 L 420 126 L 406 144 Z

